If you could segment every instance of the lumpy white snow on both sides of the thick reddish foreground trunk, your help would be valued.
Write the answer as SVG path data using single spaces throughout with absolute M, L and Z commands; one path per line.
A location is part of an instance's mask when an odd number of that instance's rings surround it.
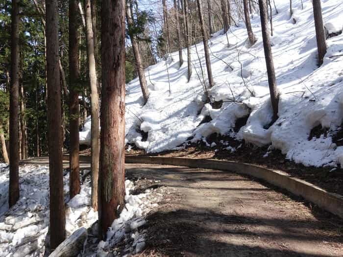
M 87 170 L 83 172 L 86 173 Z M 21 165 L 19 178 L 20 199 L 8 209 L 9 168 L 6 164 L 0 164 L 0 256 L 43 256 L 49 226 L 49 167 Z M 122 224 L 128 226 L 132 233 L 138 233 L 138 228 L 145 224 L 144 214 L 155 207 L 151 204 L 155 198 L 150 191 L 130 195 L 129 191 L 133 189 L 134 184 L 129 180 L 125 181 L 125 187 L 126 205 L 120 218 L 114 221 L 109 230 L 111 237 L 114 236 L 113 232 L 121 231 Z M 64 194 L 67 202 L 67 236 L 80 227 L 89 228 L 98 220 L 98 212 L 90 207 L 91 180 L 89 176 L 81 185 L 80 193 L 68 201 L 69 173 L 65 172 Z M 117 234 L 113 238 L 116 236 Z M 144 234 L 139 235 L 139 238 L 140 240 L 135 241 L 133 246 L 137 249 L 143 246 Z

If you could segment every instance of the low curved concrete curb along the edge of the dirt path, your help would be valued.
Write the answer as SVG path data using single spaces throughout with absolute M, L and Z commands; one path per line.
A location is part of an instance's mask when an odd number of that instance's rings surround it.
M 230 161 L 173 157 L 126 156 L 125 163 L 187 166 L 232 171 L 235 173 L 249 175 L 267 181 L 271 185 L 284 188 L 295 195 L 301 196 L 306 200 L 317 204 L 320 208 L 343 218 L 342 195 L 327 192 L 320 187 L 301 179 L 294 178 L 280 170 L 267 169 L 258 165 L 240 164 Z

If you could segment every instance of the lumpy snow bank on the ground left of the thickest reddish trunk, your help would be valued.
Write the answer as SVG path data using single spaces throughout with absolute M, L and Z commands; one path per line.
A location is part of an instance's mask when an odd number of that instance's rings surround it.
M 0 250 L 1 256 L 43 256 L 49 226 L 49 167 L 24 165 L 19 169 L 20 199 L 8 209 L 9 169 L 0 172 Z M 64 193 L 68 195 L 69 173 L 64 177 Z M 79 227 L 89 227 L 98 213 L 89 206 L 90 179 L 66 210 L 67 235 Z M 66 199 L 68 200 L 68 199 Z M 30 249 L 23 254 L 24 249 Z

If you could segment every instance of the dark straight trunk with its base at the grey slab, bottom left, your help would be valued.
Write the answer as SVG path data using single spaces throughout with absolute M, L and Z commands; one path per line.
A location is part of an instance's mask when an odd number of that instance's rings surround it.
M 57 0 L 46 0 L 48 146 L 50 188 L 50 246 L 55 249 L 66 237 L 63 195 L 61 88 L 58 65 Z

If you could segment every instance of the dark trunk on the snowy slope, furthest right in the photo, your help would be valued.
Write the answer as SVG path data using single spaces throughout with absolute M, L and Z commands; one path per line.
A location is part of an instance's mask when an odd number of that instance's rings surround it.
M 315 19 L 316 26 L 316 37 L 318 47 L 318 63 L 323 63 L 324 56 L 326 54 L 326 42 L 325 42 L 325 31 L 323 25 L 323 18 L 321 15 L 321 3 L 320 0 L 312 0 L 313 3 L 313 16 Z

